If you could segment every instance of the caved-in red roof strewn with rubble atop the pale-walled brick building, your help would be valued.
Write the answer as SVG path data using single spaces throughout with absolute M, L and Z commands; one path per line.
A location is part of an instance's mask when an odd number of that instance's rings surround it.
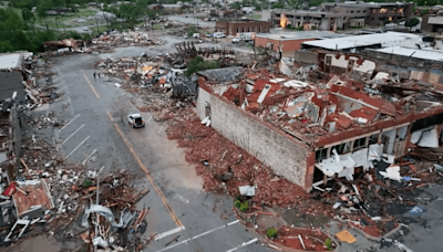
M 434 102 L 443 92 L 418 81 L 353 80 L 303 66 L 295 72 L 309 76 L 299 81 L 299 75 L 245 70 L 220 96 L 312 148 L 443 113 Z

